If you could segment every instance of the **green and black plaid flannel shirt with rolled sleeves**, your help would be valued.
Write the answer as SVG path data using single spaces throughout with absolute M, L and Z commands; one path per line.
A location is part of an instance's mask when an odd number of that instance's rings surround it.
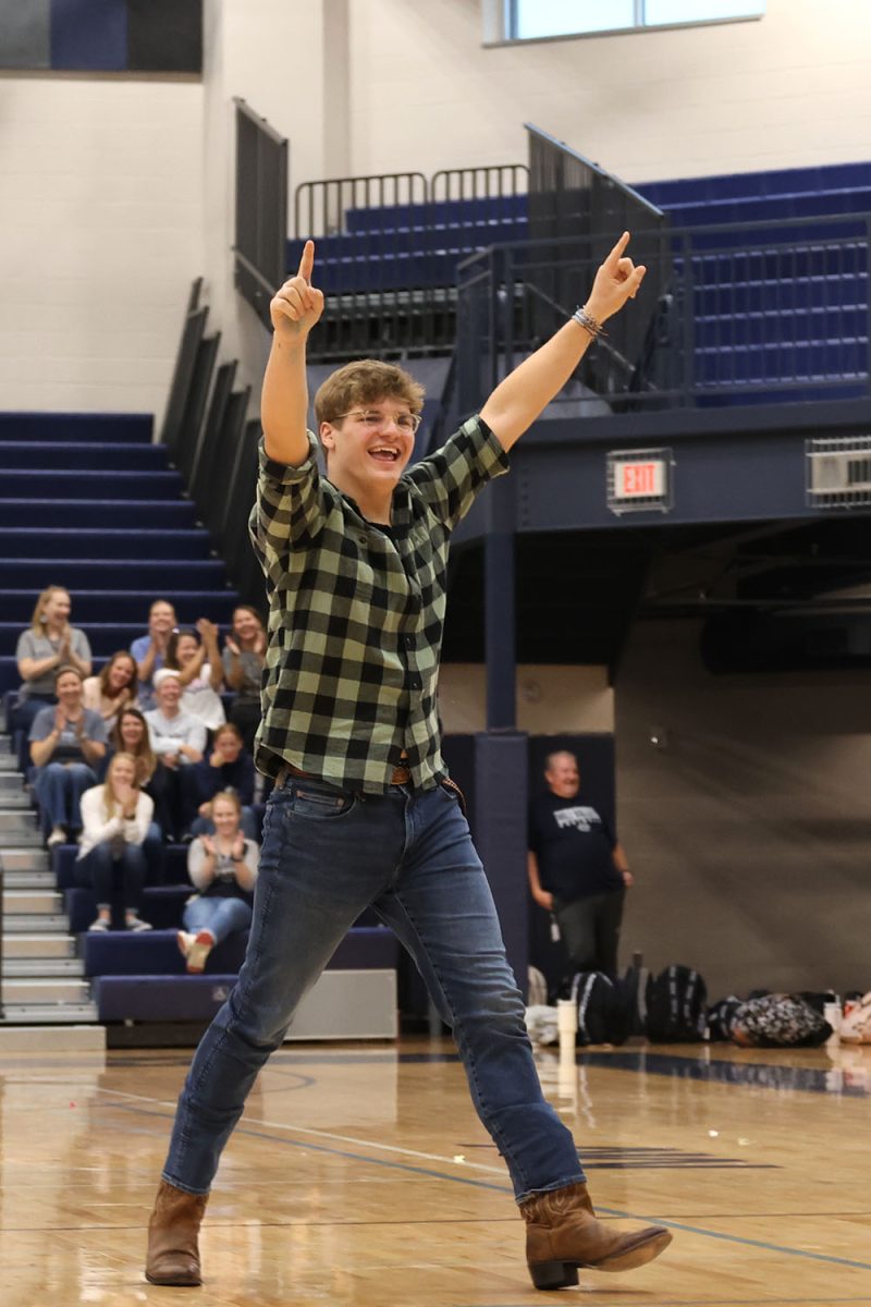
M 389 533 L 317 471 L 260 446 L 249 529 L 266 578 L 269 648 L 257 767 L 285 763 L 384 793 L 401 755 L 427 789 L 447 776 L 436 716 L 451 532 L 508 457 L 469 418 L 393 491 Z

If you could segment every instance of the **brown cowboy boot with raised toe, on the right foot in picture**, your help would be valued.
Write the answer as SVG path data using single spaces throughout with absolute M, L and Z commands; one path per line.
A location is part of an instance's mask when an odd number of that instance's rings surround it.
M 595 1219 L 585 1184 L 534 1193 L 520 1205 L 526 1222 L 526 1261 L 535 1289 L 577 1283 L 577 1268 L 632 1270 L 671 1243 L 663 1226 L 619 1234 Z

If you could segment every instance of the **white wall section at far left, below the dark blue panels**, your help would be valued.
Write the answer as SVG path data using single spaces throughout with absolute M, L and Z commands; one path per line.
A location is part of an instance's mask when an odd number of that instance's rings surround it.
M 197 81 L 0 74 L 0 409 L 162 408 L 202 199 Z

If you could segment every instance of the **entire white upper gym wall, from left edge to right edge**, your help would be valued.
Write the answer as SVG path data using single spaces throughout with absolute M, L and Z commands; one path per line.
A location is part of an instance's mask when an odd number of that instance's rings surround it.
M 871 157 L 871 4 L 482 47 L 481 0 L 205 0 L 204 81 L 0 73 L 0 408 L 162 412 L 205 274 L 222 356 L 264 336 L 231 281 L 232 110 L 291 188 L 525 158 L 531 120 L 627 180 Z

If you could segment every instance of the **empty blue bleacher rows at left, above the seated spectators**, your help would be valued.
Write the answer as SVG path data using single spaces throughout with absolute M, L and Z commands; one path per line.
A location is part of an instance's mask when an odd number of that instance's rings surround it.
M 48 584 L 69 588 L 95 667 L 142 634 L 158 595 L 184 622 L 226 623 L 236 600 L 150 416 L 0 414 L 0 693 Z

